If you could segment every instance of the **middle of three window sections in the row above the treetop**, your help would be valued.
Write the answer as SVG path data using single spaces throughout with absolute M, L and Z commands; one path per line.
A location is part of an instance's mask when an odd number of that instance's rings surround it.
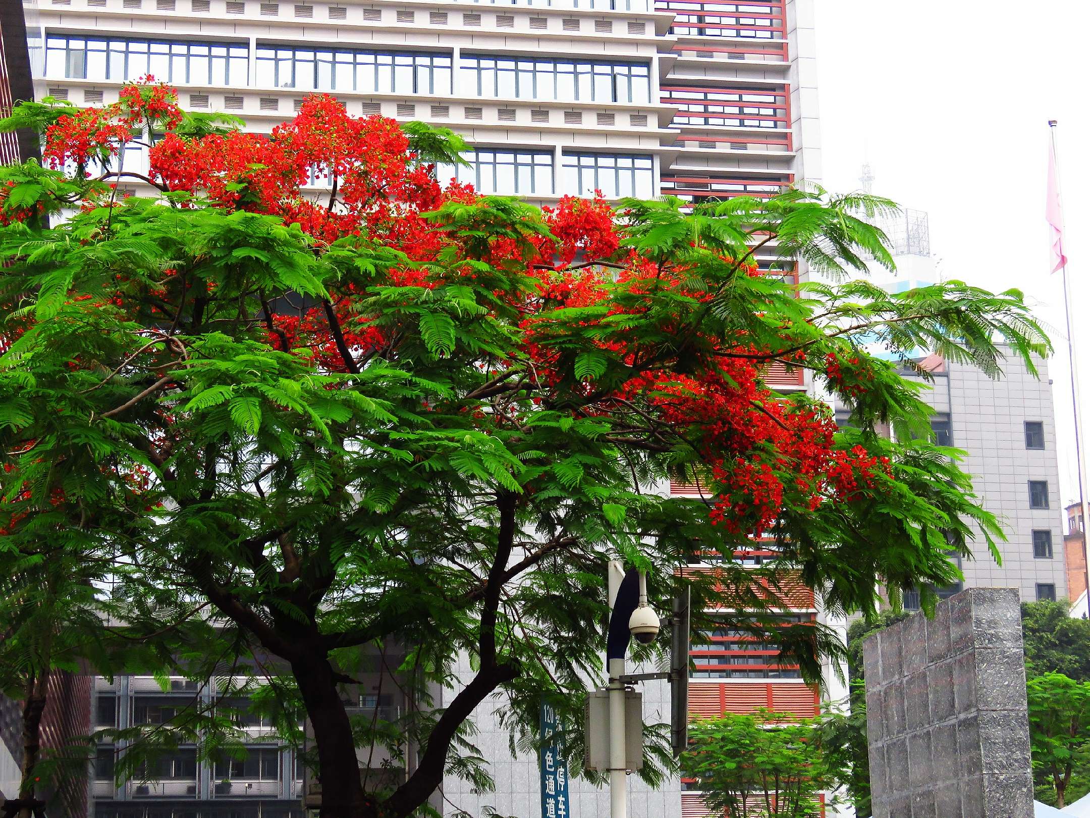
M 450 55 L 355 49 L 257 49 L 257 84 L 299 91 L 450 94 Z

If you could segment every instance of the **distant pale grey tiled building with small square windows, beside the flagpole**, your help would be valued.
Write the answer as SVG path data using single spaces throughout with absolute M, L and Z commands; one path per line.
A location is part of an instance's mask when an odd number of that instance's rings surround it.
M 868 173 L 869 168 L 864 169 L 864 176 Z M 927 213 L 901 210 L 879 226 L 889 238 L 897 273 L 875 268 L 875 284 L 897 293 L 940 280 Z M 879 346 L 871 351 L 880 357 L 885 352 Z M 1001 361 L 1002 376 L 991 377 L 972 364 L 947 361 L 929 351 L 916 350 L 916 358 L 931 375 L 931 388 L 922 397 L 934 409 L 934 441 L 967 453 L 961 469 L 972 477 L 983 506 L 995 515 L 1007 536 L 1006 542 L 996 543 L 1002 564 L 992 558 L 983 537 L 978 537 L 973 558 L 958 558 L 965 581 L 937 589 L 940 596 L 950 596 L 962 587 L 997 587 L 1017 588 L 1026 602 L 1067 597 L 1070 572 L 1065 567 L 1065 554 L 1069 549 L 1061 525 L 1049 361 L 1034 359 L 1034 375 L 1006 350 L 1009 354 Z M 921 380 L 910 370 L 903 374 Z M 837 406 L 836 413 L 838 422 L 846 422 L 850 411 Z M 1081 586 L 1073 596 L 1080 590 Z M 905 596 L 907 609 L 919 605 L 918 591 Z

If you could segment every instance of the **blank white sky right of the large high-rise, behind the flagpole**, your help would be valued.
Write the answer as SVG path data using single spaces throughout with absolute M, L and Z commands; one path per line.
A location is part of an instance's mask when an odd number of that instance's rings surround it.
M 823 185 L 860 188 L 870 161 L 874 193 L 929 213 L 943 278 L 1025 292 L 1053 328 L 1061 489 L 1064 502 L 1073 502 L 1063 290 L 1059 274 L 1049 275 L 1044 195 L 1047 121 L 1055 119 L 1076 358 L 1090 407 L 1090 204 L 1077 194 L 1090 189 L 1090 2 L 815 0 L 815 7 Z M 1086 430 L 1090 411 L 1081 414 Z

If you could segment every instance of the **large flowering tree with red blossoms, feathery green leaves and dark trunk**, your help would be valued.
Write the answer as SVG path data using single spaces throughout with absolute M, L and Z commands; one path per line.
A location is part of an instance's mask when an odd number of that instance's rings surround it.
M 409 815 L 445 773 L 487 786 L 468 719 L 497 696 L 513 744 L 544 697 L 578 753 L 610 557 L 650 572 L 659 610 L 691 586 L 693 610 L 758 627 L 791 584 L 870 615 L 880 588 L 948 585 L 952 549 L 1002 537 L 897 365 L 923 346 L 997 375 L 1004 350 L 1032 368 L 1047 340 L 1017 291 L 846 280 L 892 263 L 867 220 L 885 200 L 537 209 L 440 184 L 452 133 L 324 95 L 270 134 L 154 82 L 4 127 L 38 130 L 45 164 L 0 179 L 0 549 L 89 538 L 80 558 L 118 566 L 126 645 L 266 679 L 284 730 L 305 711 L 323 815 Z M 120 194 L 134 177 L 148 195 Z M 795 258 L 833 282 L 795 285 Z M 771 365 L 809 373 L 852 428 L 771 388 Z M 665 496 L 671 478 L 704 495 Z M 754 539 L 777 557 L 730 560 Z M 777 640 L 808 677 L 835 649 L 813 625 Z M 339 690 L 391 643 L 414 707 L 361 721 Z M 421 753 L 365 793 L 373 742 Z M 646 751 L 654 782 L 665 736 Z

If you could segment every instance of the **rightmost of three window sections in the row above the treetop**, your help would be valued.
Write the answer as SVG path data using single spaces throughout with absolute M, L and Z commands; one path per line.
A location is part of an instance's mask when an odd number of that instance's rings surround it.
M 651 101 L 646 63 L 519 60 L 463 55 L 463 93 L 505 99 L 595 103 Z

